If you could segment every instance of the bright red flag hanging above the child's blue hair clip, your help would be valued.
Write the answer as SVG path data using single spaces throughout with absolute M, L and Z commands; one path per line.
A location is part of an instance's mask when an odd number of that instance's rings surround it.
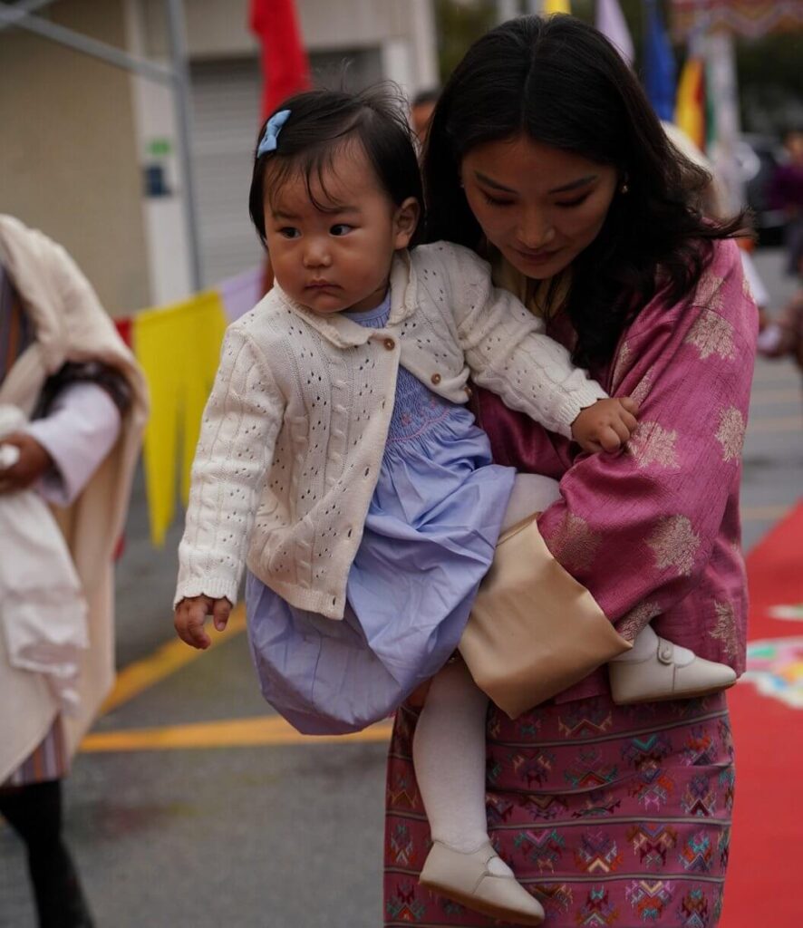
M 262 43 L 262 118 L 309 86 L 307 62 L 293 0 L 251 0 L 251 29 Z

